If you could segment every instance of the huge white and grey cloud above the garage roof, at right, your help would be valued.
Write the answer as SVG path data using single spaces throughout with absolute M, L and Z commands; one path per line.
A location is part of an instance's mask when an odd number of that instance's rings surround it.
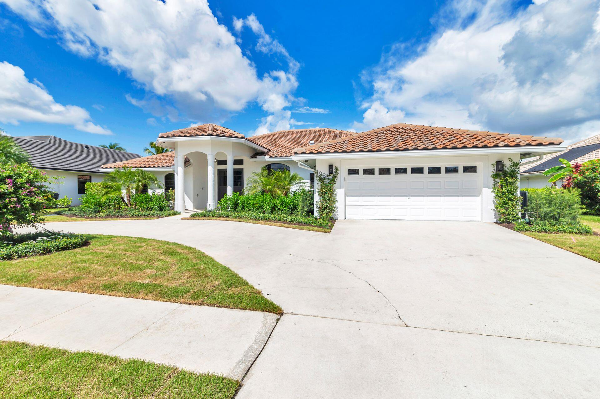
M 517 12 L 509 0 L 451 5 L 416 55 L 397 44 L 364 72 L 373 95 L 363 106 L 375 116 L 565 138 L 600 120 L 599 0 L 536 1 Z

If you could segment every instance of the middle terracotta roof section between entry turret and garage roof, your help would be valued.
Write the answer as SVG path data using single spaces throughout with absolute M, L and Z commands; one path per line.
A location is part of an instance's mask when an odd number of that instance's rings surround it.
M 256 155 L 278 157 L 292 156 L 294 149 L 308 146 L 311 140 L 315 143 L 323 143 L 323 141 L 335 140 L 352 134 L 349 131 L 329 128 L 292 129 L 252 136 L 247 140 L 269 149 L 266 153 L 257 153 Z

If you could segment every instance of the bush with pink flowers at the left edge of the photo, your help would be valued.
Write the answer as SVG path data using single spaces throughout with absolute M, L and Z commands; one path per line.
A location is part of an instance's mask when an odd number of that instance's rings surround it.
M 0 164 L 0 235 L 11 225 L 32 226 L 43 222 L 44 205 L 52 198 L 46 176 L 29 164 Z

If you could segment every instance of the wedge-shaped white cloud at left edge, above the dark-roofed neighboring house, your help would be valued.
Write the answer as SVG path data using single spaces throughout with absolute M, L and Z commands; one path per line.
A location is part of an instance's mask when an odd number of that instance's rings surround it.
M 41 83 L 29 81 L 23 69 L 6 61 L 0 63 L 0 122 L 59 123 L 82 132 L 112 134 L 92 123 L 85 109 L 56 102 Z

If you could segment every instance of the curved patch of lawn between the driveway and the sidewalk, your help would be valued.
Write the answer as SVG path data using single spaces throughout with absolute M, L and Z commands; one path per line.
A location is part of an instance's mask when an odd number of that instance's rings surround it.
M 115 235 L 86 238 L 86 247 L 1 261 L 0 284 L 282 313 L 238 274 L 192 247 Z

